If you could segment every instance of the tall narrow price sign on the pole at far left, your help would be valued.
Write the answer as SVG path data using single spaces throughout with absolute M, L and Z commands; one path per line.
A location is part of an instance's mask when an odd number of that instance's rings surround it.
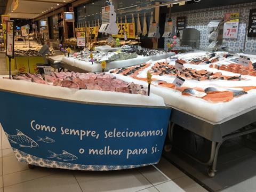
M 7 31 L 7 41 L 6 41 L 6 55 L 9 58 L 14 58 L 14 21 L 8 20 L 7 21 L 7 26 L 6 26 L 6 31 Z

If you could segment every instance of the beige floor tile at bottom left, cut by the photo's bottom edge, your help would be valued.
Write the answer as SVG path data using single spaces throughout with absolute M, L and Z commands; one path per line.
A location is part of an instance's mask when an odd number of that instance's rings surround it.
M 53 174 L 4 188 L 4 192 L 82 192 L 71 173 Z

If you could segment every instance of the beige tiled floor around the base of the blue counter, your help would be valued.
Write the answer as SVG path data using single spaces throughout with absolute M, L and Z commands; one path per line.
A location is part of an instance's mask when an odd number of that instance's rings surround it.
M 123 171 L 30 170 L 16 160 L 3 131 L 0 139 L 0 192 L 206 192 L 164 158 L 156 166 Z

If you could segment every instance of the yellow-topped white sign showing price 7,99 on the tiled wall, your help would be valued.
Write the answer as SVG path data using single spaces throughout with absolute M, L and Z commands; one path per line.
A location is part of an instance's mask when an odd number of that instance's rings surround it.
M 239 13 L 226 13 L 225 20 L 230 20 L 224 23 L 223 38 L 237 39 L 239 27 Z

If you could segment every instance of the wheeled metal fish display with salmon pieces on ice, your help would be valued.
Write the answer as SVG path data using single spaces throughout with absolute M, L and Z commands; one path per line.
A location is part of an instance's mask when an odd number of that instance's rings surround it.
M 244 56 L 250 58 L 247 66 L 241 62 Z M 177 60 L 182 63 L 179 70 L 175 66 Z M 251 54 L 197 51 L 145 65 L 114 69 L 109 73 L 127 82 L 146 85 L 147 71 L 150 71 L 153 75 L 151 91 L 163 97 L 166 105 L 172 107 L 171 143 L 175 137 L 175 125 L 210 140 L 209 161 L 193 158 L 210 165 L 209 176 L 213 177 L 222 143 L 256 131 L 254 128 L 243 129 L 255 122 L 255 61 L 256 56 Z M 174 84 L 177 75 L 184 80 L 181 86 Z M 172 144 L 172 147 L 177 147 Z M 170 146 L 166 146 L 168 148 Z

